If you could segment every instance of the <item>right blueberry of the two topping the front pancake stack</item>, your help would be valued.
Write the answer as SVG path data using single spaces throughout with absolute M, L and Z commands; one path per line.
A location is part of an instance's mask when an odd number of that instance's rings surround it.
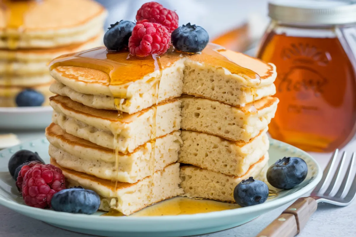
M 179 51 L 197 53 L 202 51 L 209 42 L 209 35 L 203 27 L 183 25 L 172 32 L 172 44 Z

